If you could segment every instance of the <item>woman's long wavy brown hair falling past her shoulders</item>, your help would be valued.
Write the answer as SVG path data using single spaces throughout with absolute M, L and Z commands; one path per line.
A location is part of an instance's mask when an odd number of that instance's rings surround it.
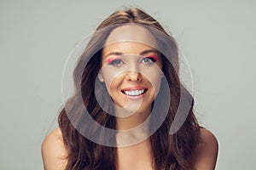
M 162 50 L 166 50 L 165 54 L 169 54 L 172 59 L 171 63 L 166 59 L 167 56 L 161 54 L 163 63 L 162 71 L 168 82 L 172 99 L 170 100 L 169 108 L 167 108 L 165 120 L 156 132 L 150 136 L 154 156 L 154 169 L 193 169 L 190 158 L 200 139 L 200 126 L 193 113 L 194 99 L 192 95 L 189 94 L 189 91 L 183 87 L 177 74 L 177 43 L 173 37 L 166 33 L 159 22 L 139 8 L 119 10 L 111 14 L 97 27 L 96 31 L 100 31 L 102 28 L 108 26 L 118 26 L 119 24 L 125 23 L 137 23 L 144 26 L 151 26 L 166 34 L 168 37 L 165 40 L 159 39 L 158 42 L 164 44 L 165 48 Z M 109 32 L 113 31 L 113 28 L 114 27 L 108 31 L 97 32 L 93 35 L 73 71 L 75 93 L 73 97 L 68 99 L 58 119 L 64 144 L 68 152 L 67 170 L 116 169 L 116 148 L 96 144 L 90 139 L 86 139 L 84 135 L 80 134 L 80 131 L 77 130 L 79 125 L 79 128 L 84 130 L 84 132 L 91 134 L 97 133 L 99 134 L 99 138 L 101 138 L 102 129 L 86 126 L 90 122 L 84 118 L 84 106 L 96 122 L 104 127 L 115 129 L 114 116 L 110 116 L 106 111 L 103 111 L 96 100 L 97 94 L 101 94 L 102 98 L 104 98 L 104 92 L 106 93 L 107 91 L 106 87 L 102 85 L 100 88 L 95 88 L 97 73 L 101 66 L 102 53 L 101 50 L 95 53 L 95 50 L 102 46 Z M 85 65 L 86 63 L 87 65 Z M 191 100 L 192 102 L 188 102 L 189 114 L 182 127 L 171 135 L 169 131 L 177 113 L 181 92 L 188 101 Z M 160 89 L 158 95 L 162 94 L 165 94 L 165 92 Z M 82 98 L 80 96 L 82 96 Z M 110 105 L 108 100 L 106 100 L 106 102 L 106 105 Z M 67 113 L 71 113 L 72 116 L 68 116 Z M 76 117 L 76 119 L 71 121 L 71 117 Z M 76 126 L 74 126 L 74 124 L 76 124 Z M 109 139 L 113 138 L 109 136 Z M 115 141 L 110 140 L 110 142 L 114 143 Z

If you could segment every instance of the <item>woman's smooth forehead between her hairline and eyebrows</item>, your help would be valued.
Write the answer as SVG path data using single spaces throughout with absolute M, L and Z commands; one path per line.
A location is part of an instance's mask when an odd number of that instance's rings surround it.
M 125 43 L 121 43 L 125 42 Z M 157 48 L 154 35 L 147 28 L 136 24 L 126 24 L 115 28 L 109 34 L 104 46 L 125 44 L 141 44 L 141 46 Z

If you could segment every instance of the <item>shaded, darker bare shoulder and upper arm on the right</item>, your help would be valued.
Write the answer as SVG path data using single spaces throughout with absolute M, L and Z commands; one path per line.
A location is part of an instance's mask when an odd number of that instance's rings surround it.
M 207 129 L 201 128 L 201 143 L 195 148 L 193 164 L 196 170 L 215 169 L 218 157 L 218 140 Z

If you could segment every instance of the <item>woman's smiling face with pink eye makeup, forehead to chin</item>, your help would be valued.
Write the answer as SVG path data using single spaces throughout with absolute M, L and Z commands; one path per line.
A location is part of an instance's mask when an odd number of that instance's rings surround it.
M 159 91 L 162 62 L 149 42 L 156 41 L 145 28 L 120 26 L 110 33 L 102 48 L 99 80 L 105 82 L 113 103 L 121 108 L 147 111 Z

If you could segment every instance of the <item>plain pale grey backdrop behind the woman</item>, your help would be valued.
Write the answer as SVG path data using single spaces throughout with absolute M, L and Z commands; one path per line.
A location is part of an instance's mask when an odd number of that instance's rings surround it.
M 177 38 L 195 81 L 196 116 L 218 138 L 217 169 L 256 169 L 255 1 L 0 1 L 0 169 L 43 169 L 61 72 L 79 40 L 124 6 Z

